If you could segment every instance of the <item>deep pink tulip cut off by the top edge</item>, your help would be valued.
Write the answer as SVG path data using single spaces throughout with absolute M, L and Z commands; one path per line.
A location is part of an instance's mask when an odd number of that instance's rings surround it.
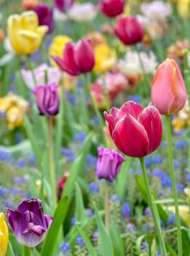
M 101 0 L 100 10 L 109 18 L 114 18 L 124 11 L 124 0 Z

